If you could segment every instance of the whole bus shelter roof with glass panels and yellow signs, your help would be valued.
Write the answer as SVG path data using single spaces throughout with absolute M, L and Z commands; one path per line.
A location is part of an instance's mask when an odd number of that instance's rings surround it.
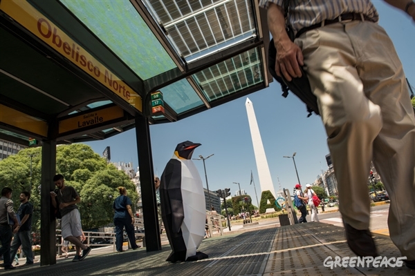
M 137 115 L 177 121 L 272 81 L 257 1 L 10 0 L 0 15 L 3 138 L 46 139 L 57 118 L 62 143 L 104 139 L 133 128 Z M 158 90 L 165 114 L 151 115 Z M 112 117 L 71 128 L 95 111 Z M 22 128 L 16 116 L 39 127 Z

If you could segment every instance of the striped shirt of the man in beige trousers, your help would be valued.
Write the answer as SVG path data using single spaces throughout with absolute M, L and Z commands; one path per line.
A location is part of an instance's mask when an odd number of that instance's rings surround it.
M 282 7 L 284 0 L 260 0 L 259 6 L 268 8 L 269 3 Z M 289 3 L 288 22 L 295 33 L 304 27 L 326 19 L 335 19 L 348 12 L 365 14 L 374 22 L 379 20 L 379 14 L 370 0 L 289 0 Z

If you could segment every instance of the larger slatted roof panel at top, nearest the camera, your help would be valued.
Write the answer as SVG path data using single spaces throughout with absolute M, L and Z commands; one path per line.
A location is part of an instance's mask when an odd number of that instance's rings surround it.
M 187 62 L 257 36 L 250 0 L 143 2 Z

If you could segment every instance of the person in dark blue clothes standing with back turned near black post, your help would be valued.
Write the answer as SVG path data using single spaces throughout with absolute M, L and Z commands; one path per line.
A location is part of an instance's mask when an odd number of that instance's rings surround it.
M 127 189 L 118 187 L 120 196 L 114 200 L 113 208 L 115 210 L 114 225 L 116 226 L 116 250 L 122 252 L 122 242 L 124 242 L 124 227 L 127 232 L 131 248 L 136 250 L 141 247 L 136 244 L 136 234 L 134 233 L 134 215 L 131 210 L 131 199 L 127 197 Z

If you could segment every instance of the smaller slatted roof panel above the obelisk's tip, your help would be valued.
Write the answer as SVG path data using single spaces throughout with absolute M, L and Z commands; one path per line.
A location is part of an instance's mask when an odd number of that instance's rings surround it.
M 192 77 L 205 97 L 214 101 L 263 82 L 263 67 L 258 47 L 210 66 Z

